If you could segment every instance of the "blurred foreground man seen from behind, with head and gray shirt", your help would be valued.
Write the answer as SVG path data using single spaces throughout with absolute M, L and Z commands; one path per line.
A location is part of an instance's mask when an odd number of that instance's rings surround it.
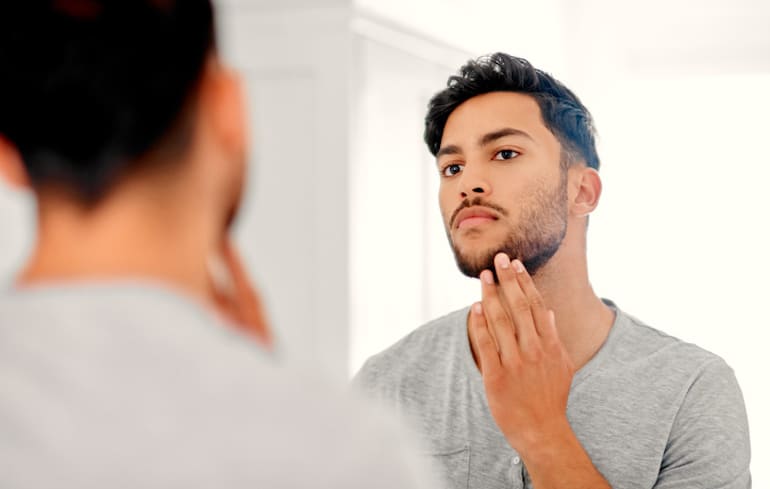
M 38 216 L 0 295 L 0 487 L 430 487 L 387 417 L 270 361 L 212 15 L 0 7 L 0 169 Z

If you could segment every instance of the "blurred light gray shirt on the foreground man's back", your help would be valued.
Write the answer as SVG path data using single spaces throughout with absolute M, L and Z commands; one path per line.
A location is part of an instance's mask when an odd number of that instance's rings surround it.
M 392 418 L 303 375 L 158 286 L 4 294 L 0 487 L 433 487 Z

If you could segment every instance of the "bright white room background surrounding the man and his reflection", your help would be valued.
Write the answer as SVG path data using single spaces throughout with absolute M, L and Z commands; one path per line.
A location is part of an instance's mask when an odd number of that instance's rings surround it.
M 770 487 L 770 2 L 351 1 L 218 2 L 253 125 L 237 238 L 284 357 L 342 382 L 478 298 L 446 244 L 422 118 L 465 60 L 507 51 L 596 119 L 597 293 L 728 361 L 754 485 Z M 32 214 L 0 186 L 0 281 L 23 260 Z

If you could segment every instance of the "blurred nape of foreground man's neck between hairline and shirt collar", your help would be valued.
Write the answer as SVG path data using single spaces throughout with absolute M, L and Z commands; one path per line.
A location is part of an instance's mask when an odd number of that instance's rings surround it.
M 165 201 L 164 201 L 165 200 Z M 45 282 L 148 279 L 205 300 L 213 243 L 203 213 L 171 199 L 116 192 L 85 209 L 56 195 L 38 199 L 38 239 L 20 286 Z

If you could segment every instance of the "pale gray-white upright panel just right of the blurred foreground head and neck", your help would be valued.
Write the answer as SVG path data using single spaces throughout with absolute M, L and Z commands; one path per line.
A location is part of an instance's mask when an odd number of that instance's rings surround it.
M 349 351 L 350 12 L 340 0 L 220 2 L 225 58 L 250 96 L 237 243 L 282 360 L 344 379 Z

